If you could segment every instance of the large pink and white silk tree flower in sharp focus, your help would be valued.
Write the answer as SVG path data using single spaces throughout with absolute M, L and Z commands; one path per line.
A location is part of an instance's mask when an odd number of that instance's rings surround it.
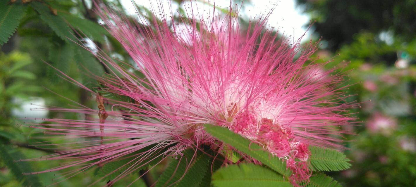
M 178 15 L 175 20 L 162 12 L 160 22 L 141 17 L 134 23 L 107 7 L 96 6 L 106 29 L 134 64 L 97 54 L 112 71 L 105 78 L 97 77 L 104 92 L 104 97 L 97 95 L 99 110 L 82 105 L 54 109 L 88 116 L 99 113 L 99 120 L 45 119 L 47 123 L 33 125 L 61 138 L 83 140 L 62 144 L 71 149 L 40 158 L 79 160 L 42 172 L 72 168 L 63 175 L 71 177 L 146 148 L 135 155 L 134 166 L 146 165 L 144 160 L 155 153 L 180 156 L 183 150 L 201 146 L 222 154 L 225 145 L 206 133 L 206 123 L 226 127 L 286 160 L 295 182 L 311 175 L 309 145 L 343 148 L 340 135 L 347 132 L 339 126 L 353 124 L 348 109 L 356 105 L 345 101 L 348 96 L 342 89 L 347 86 L 339 86 L 344 74 L 336 68 L 326 71 L 325 64 L 310 60 L 316 43 L 302 46 L 300 39 L 280 38 L 268 28 L 271 12 L 243 31 L 234 16 L 238 12 L 221 17 L 215 8 L 209 17 L 188 10 L 187 16 Z M 319 74 L 305 76 L 311 69 L 319 69 Z M 106 94 L 127 101 L 105 98 Z M 104 107 L 106 102 L 111 110 Z M 111 182 L 134 168 L 122 171 Z

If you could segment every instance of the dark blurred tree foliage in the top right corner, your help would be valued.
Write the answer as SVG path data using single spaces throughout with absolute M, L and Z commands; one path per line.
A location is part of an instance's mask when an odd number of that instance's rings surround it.
M 316 20 L 313 27 L 327 40 L 332 51 L 350 44 L 355 34 L 366 31 L 392 32 L 408 42 L 416 30 L 414 0 L 297 0 L 302 9 Z M 377 6 L 374 6 L 377 4 Z M 349 59 L 347 59 L 349 60 Z

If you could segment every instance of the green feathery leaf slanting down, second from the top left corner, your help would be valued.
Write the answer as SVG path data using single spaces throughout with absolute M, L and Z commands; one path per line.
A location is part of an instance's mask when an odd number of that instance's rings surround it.
M 40 18 L 46 22 L 46 24 L 51 27 L 51 29 L 65 42 L 77 42 L 77 39 L 74 37 L 71 28 L 67 25 L 64 18 L 60 15 L 53 15 L 50 9 L 42 4 L 42 2 L 31 2 L 30 6 L 35 9 Z

